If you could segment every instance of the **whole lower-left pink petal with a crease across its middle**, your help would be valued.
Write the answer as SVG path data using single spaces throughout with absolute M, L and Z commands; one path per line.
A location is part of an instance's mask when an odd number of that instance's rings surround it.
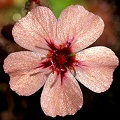
M 10 75 L 10 88 L 19 95 L 29 96 L 39 90 L 45 80 L 39 66 L 41 55 L 30 51 L 10 54 L 4 61 L 4 70 Z

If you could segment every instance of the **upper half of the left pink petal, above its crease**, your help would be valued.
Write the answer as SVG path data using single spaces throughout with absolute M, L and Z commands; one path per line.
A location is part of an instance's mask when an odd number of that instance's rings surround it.
M 4 60 L 4 70 L 12 73 L 21 70 L 30 70 L 38 67 L 42 55 L 30 51 L 14 52 Z

